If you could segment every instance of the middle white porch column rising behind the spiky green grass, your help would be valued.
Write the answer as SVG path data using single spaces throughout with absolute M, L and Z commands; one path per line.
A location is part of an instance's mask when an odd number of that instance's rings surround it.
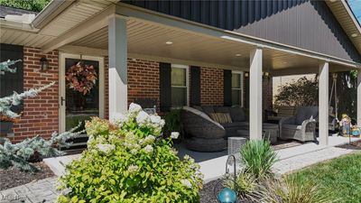
M 260 47 L 250 52 L 249 133 L 250 139 L 262 139 L 262 58 Z

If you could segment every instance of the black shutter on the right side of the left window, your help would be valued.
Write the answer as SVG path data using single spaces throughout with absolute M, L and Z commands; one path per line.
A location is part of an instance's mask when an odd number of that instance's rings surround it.
M 190 67 L 190 106 L 200 106 L 200 67 Z

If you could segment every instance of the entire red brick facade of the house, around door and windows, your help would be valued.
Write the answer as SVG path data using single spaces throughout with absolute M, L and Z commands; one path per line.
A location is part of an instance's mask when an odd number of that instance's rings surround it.
M 50 69 L 40 70 L 39 60 L 46 57 Z M 39 88 L 55 81 L 37 97 L 23 101 L 23 116 L 14 125 L 14 141 L 40 134 L 49 138 L 59 130 L 59 53 L 41 54 L 38 49 L 24 47 L 24 89 Z M 105 117 L 108 118 L 108 58 L 105 58 Z M 159 111 L 160 84 L 159 62 L 128 59 L 128 104 L 137 98 L 157 100 Z M 201 106 L 223 106 L 223 69 L 200 68 Z M 191 96 L 190 96 L 191 97 Z M 264 108 L 272 107 L 272 79 L 264 79 Z

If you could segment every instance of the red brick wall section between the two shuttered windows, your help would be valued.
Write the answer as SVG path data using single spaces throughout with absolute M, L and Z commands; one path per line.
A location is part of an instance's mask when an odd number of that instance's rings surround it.
M 223 106 L 223 69 L 200 68 L 200 105 Z

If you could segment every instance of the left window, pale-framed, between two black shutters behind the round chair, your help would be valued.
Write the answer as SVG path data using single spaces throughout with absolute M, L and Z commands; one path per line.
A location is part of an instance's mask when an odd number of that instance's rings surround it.
M 171 107 L 188 106 L 188 66 L 171 64 Z

